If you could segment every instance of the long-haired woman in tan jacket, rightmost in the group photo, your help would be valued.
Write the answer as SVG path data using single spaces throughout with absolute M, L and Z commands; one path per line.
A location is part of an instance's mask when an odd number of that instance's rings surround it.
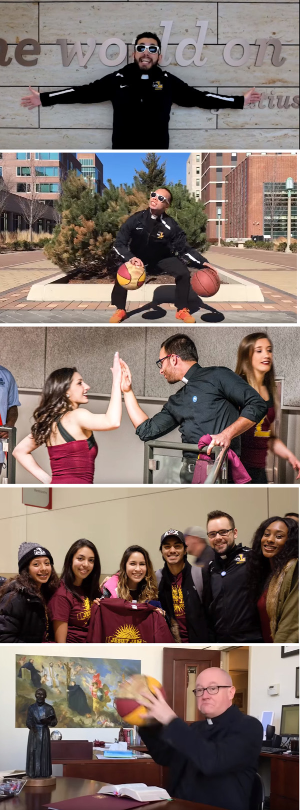
M 254 535 L 249 595 L 265 643 L 298 643 L 298 544 L 298 523 L 291 518 L 268 518 Z

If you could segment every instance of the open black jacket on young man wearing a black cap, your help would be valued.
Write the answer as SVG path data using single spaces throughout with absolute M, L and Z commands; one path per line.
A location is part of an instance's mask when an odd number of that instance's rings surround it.
M 185 560 L 182 572 L 182 593 L 184 597 L 185 619 L 188 630 L 188 642 L 207 642 L 209 640 L 205 612 L 192 580 L 192 565 Z M 171 589 L 171 573 L 165 562 L 162 578 L 158 585 L 158 599 L 170 620 L 175 620 Z

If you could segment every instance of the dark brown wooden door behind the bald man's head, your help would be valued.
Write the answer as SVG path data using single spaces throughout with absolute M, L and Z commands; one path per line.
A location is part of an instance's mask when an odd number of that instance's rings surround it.
M 192 689 L 200 672 L 208 667 L 219 667 L 220 661 L 220 650 L 164 647 L 163 689 L 169 706 L 186 723 L 205 719 L 196 708 L 196 697 L 192 694 Z

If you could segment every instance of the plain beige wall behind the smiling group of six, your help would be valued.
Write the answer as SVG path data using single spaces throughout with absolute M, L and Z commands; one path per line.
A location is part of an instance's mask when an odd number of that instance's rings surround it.
M 102 573 L 114 573 L 125 548 L 136 543 L 148 549 L 158 568 L 163 531 L 205 527 L 212 509 L 232 514 L 239 542 L 250 545 L 265 518 L 299 511 L 298 487 L 57 487 L 51 511 L 24 506 L 19 487 L 0 488 L 0 574 L 15 573 L 20 543 L 41 539 L 60 572 L 65 553 L 79 537 L 95 543 Z

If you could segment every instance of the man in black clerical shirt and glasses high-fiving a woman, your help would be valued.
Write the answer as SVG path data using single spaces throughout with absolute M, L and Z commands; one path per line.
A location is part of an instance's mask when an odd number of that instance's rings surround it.
M 166 436 L 180 426 L 182 441 L 190 444 L 197 444 L 201 436 L 209 433 L 212 440 L 208 454 L 218 445 L 230 446 L 239 455 L 240 434 L 265 416 L 264 399 L 242 377 L 223 367 L 201 368 L 195 343 L 188 335 L 172 335 L 162 343 L 156 360 L 159 373 L 170 385 L 183 382 L 184 386 L 169 397 L 162 411 L 152 419 L 133 394 L 128 365 L 124 360 L 120 363 L 125 406 L 142 441 Z M 196 455 L 184 453 L 182 484 L 192 483 L 195 465 Z

